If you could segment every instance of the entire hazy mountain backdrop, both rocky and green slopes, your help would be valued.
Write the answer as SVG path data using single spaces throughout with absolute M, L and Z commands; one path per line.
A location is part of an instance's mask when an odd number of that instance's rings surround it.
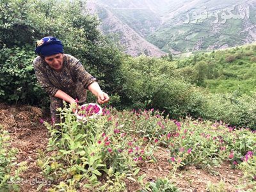
M 255 0 L 88 2 L 97 4 L 102 32 L 115 34 L 113 39 L 133 56 L 222 49 L 256 40 Z

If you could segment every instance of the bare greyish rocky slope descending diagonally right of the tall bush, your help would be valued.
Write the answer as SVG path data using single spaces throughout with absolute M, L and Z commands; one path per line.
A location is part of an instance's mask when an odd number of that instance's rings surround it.
M 164 56 L 166 52 L 161 51 L 156 45 L 150 44 L 145 38 L 143 33 L 147 34 L 146 29 L 141 28 L 140 34 L 134 31 L 129 24 L 122 22 L 116 15 L 103 4 L 96 3 L 95 1 L 88 1 L 87 7 L 91 13 L 97 13 L 100 19 L 99 29 L 108 35 L 116 44 L 122 46 L 124 52 L 131 56 L 138 56 L 145 54 L 147 56 Z M 159 20 L 156 19 L 155 22 Z M 151 24 L 151 22 L 149 22 Z M 143 32 L 144 31 L 144 32 Z M 148 33 L 149 34 L 149 33 Z

